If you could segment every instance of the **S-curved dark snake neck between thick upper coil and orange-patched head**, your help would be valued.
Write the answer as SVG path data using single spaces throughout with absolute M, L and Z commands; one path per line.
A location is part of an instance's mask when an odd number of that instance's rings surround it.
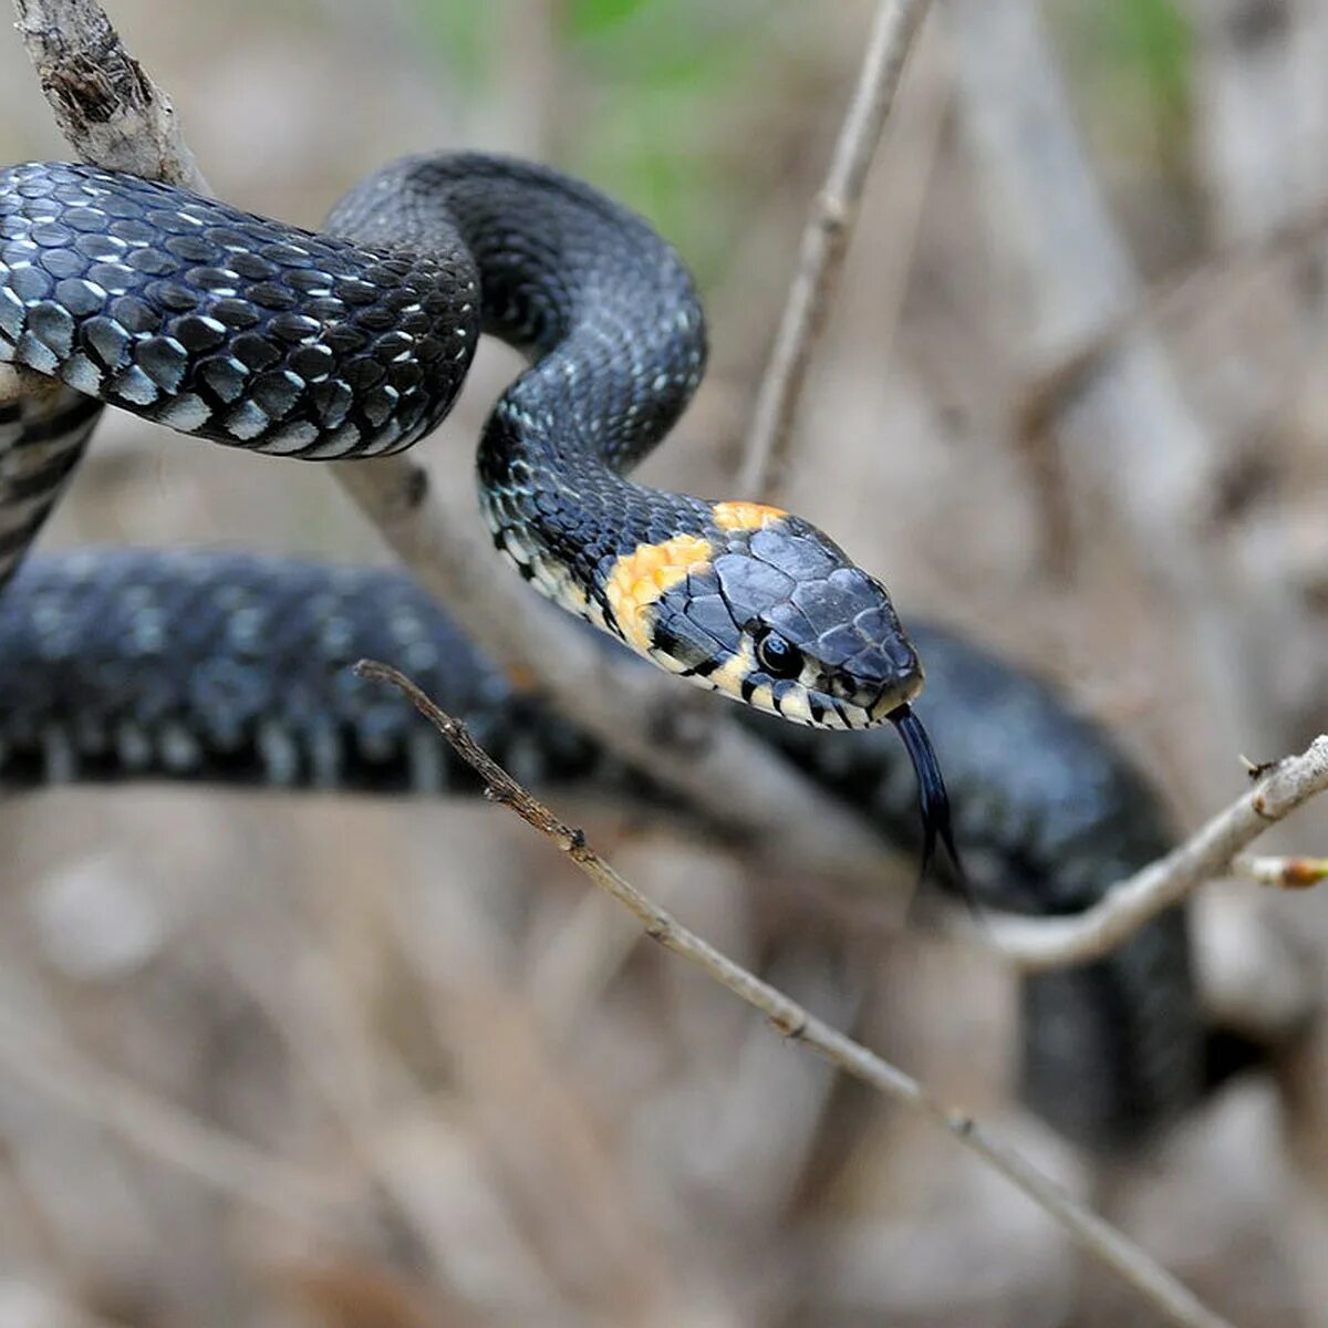
M 679 535 L 710 505 L 624 478 L 701 380 L 705 324 L 673 248 L 555 171 L 475 154 L 416 157 L 344 198 L 329 230 L 475 264 L 483 331 L 531 361 L 478 453 L 494 544 L 537 590 L 606 625 L 615 560 Z

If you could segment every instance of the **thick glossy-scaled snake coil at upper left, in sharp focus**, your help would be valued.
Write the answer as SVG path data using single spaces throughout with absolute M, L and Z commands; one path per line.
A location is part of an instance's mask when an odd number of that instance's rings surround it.
M 7 359 L 276 456 L 409 446 L 446 414 L 479 332 L 454 232 L 409 258 L 367 251 L 94 166 L 0 173 L 0 275 Z

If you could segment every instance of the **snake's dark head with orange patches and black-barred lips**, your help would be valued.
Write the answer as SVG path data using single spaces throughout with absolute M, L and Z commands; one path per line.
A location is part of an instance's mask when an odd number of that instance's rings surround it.
M 886 588 L 777 507 L 714 503 L 705 529 L 618 559 L 608 603 L 640 653 L 703 687 L 831 729 L 882 722 L 922 688 Z

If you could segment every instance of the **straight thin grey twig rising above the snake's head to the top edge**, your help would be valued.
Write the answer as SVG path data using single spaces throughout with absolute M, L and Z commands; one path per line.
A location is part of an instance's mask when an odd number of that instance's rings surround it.
M 738 479 L 740 491 L 752 497 L 774 497 L 788 467 L 798 402 L 843 271 L 867 170 L 926 13 L 927 0 L 880 0 L 876 9 L 830 170 L 802 231 L 798 267 L 757 393 Z

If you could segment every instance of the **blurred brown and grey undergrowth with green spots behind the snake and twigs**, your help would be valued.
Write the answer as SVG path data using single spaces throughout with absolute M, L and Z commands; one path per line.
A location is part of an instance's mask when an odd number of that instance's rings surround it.
M 643 211 L 713 345 L 645 473 L 730 490 L 872 4 L 109 9 L 240 206 L 313 226 L 380 162 L 473 146 Z M 1324 68 L 1321 0 L 938 4 L 785 495 L 915 616 L 1058 680 L 1181 826 L 1240 791 L 1238 754 L 1324 728 Z M 0 161 L 62 153 L 4 25 Z M 424 449 L 453 487 L 513 364 L 486 347 Z M 321 467 L 127 417 L 44 535 L 90 542 L 385 558 Z M 996 1121 L 1232 1320 L 1328 1321 L 1312 1044 L 1093 1166 L 1009 1102 L 999 965 L 791 926 L 712 845 L 583 810 L 689 926 Z M 1328 850 L 1323 813 L 1282 842 Z M 61 791 L 0 806 L 0 1328 L 1153 1321 L 501 811 Z M 1286 993 L 1267 947 L 1291 934 L 1321 981 L 1325 900 L 1218 886 L 1203 916 L 1250 1000 Z

